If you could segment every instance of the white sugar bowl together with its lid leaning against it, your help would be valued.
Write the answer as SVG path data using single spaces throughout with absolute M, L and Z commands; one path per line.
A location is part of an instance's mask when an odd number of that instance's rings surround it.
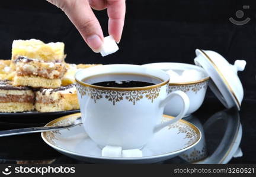
M 197 49 L 194 63 L 196 65 L 151 63 L 145 64 L 145 66 L 167 71 L 170 76 L 169 92 L 181 90 L 187 93 L 190 99 L 187 116 L 199 109 L 203 103 L 207 86 L 226 108 L 236 107 L 240 110 L 244 89 L 238 77 L 238 71 L 244 71 L 246 61 L 236 60 L 234 64 L 230 64 L 215 51 Z M 181 105 L 181 100 L 174 97 L 171 103 L 165 107 L 164 113 L 177 116 Z

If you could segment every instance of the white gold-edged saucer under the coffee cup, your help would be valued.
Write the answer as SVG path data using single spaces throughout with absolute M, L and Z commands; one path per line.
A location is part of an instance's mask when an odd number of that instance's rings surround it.
M 80 113 L 63 116 L 46 124 L 57 126 L 70 124 Z M 164 115 L 162 122 L 172 119 Z M 180 155 L 196 145 L 201 139 L 200 130 L 185 120 L 171 124 L 156 133 L 142 149 L 142 158 L 108 158 L 101 156 L 101 149 L 88 137 L 83 126 L 55 132 L 43 132 L 41 137 L 49 146 L 71 158 L 92 163 L 155 163 Z

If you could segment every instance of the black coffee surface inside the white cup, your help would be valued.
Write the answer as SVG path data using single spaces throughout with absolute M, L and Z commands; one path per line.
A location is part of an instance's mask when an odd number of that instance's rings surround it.
M 142 74 L 101 74 L 89 78 L 84 78 L 82 81 L 95 86 L 103 87 L 146 87 L 159 84 L 162 82 L 161 79 L 142 75 Z

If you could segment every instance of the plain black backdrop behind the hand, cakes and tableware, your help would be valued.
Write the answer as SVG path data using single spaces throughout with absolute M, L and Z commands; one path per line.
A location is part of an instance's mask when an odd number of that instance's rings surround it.
M 249 9 L 242 9 L 249 5 Z M 213 50 L 230 63 L 247 61 L 239 73 L 247 99 L 256 99 L 256 3 L 255 1 L 169 1 L 128 0 L 126 22 L 117 53 L 101 57 L 89 49 L 68 17 L 44 0 L 0 2 L 0 58 L 11 57 L 13 40 L 37 38 L 44 42 L 65 42 L 69 63 L 145 64 L 153 62 L 191 63 L 195 49 Z M 236 18 L 242 10 L 244 17 Z M 95 11 L 104 35 L 107 12 Z M 229 21 L 251 18 L 238 26 Z

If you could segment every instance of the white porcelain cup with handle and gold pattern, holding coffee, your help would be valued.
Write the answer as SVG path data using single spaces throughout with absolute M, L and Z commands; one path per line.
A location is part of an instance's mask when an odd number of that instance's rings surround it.
M 162 82 L 132 88 L 86 83 L 87 78 L 97 75 L 123 73 L 155 77 Z M 143 148 L 154 133 L 183 118 L 189 107 L 189 99 L 183 91 L 167 93 L 169 76 L 155 68 L 129 64 L 99 65 L 78 71 L 75 79 L 85 131 L 101 148 L 107 145 L 123 149 Z M 109 79 L 101 81 L 111 81 Z M 174 96 L 181 97 L 183 109 L 174 119 L 161 123 L 164 107 Z

